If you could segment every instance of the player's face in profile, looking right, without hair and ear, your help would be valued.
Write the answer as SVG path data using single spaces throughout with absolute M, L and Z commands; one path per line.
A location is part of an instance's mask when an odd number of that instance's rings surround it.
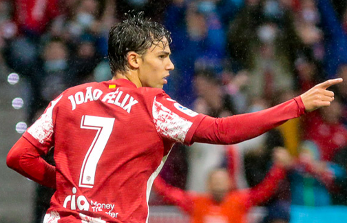
M 171 62 L 169 55 L 171 50 L 167 39 L 155 42 L 140 59 L 138 68 L 140 79 L 143 87 L 156 87 L 162 89 L 167 84 L 169 72 L 174 70 L 174 64 Z

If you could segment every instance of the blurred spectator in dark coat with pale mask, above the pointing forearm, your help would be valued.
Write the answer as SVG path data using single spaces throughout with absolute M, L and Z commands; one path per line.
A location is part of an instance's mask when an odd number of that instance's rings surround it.
M 282 1 L 246 1 L 227 36 L 234 69 L 248 70 L 253 80 L 250 96 L 268 99 L 279 89 L 294 87 L 293 52 L 301 41 L 293 28 L 293 12 Z

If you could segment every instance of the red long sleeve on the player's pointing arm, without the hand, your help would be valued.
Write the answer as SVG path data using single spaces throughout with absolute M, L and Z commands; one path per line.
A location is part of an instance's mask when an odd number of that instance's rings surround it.
M 291 118 L 305 113 L 300 96 L 285 103 L 249 114 L 212 118 L 206 116 L 193 134 L 192 142 L 234 144 L 264 134 Z

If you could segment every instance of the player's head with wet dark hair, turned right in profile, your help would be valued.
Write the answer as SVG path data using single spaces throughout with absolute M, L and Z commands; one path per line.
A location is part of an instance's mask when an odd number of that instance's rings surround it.
M 174 65 L 171 54 L 170 32 L 160 23 L 143 17 L 143 12 L 127 14 L 127 19 L 109 30 L 108 57 L 112 74 L 128 74 L 130 81 L 143 87 L 158 87 Z M 150 75 L 149 75 L 150 74 Z M 136 84 L 137 85 L 137 84 Z

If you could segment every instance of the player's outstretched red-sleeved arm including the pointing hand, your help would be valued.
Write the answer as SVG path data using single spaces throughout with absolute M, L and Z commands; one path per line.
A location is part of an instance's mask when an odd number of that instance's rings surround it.
M 329 106 L 334 100 L 334 92 L 327 88 L 341 82 L 341 78 L 325 81 L 315 85 L 301 96 L 262 111 L 227 118 L 206 116 L 198 125 L 191 143 L 234 144 L 260 136 L 282 125 L 286 120 L 301 116 L 305 111 Z

